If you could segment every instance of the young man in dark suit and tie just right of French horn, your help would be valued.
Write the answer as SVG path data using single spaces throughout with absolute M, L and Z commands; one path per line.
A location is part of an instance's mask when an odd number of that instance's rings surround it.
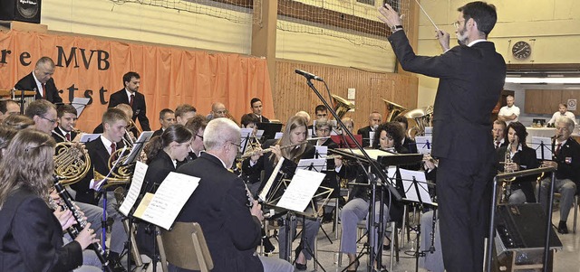
M 109 158 L 111 154 L 123 147 L 122 136 L 125 135 L 125 128 L 129 124 L 129 117 L 119 108 L 107 108 L 102 115 L 103 132 L 98 138 L 85 144 L 85 148 L 91 157 L 91 168 L 88 174 L 78 183 L 71 185 L 76 192 L 75 200 L 93 205 L 103 206 L 95 198 L 95 192 L 101 186 L 101 180 L 95 180 L 94 172 L 106 175 L 109 173 Z M 124 242 L 127 240 L 127 233 L 121 223 L 121 214 L 116 210 L 117 201 L 113 192 L 106 192 L 107 197 L 107 214 L 114 222 L 111 228 L 111 252 L 109 254 L 111 262 L 114 264 L 116 271 L 123 271 L 119 262 Z

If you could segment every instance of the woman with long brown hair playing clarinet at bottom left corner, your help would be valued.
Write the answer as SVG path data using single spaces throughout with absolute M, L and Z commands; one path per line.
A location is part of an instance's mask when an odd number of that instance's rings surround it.
M 21 130 L 0 162 L 0 271 L 72 271 L 82 250 L 97 242 L 87 224 L 63 245 L 73 213 L 53 213 L 47 204 L 53 181 L 54 140 L 34 129 Z M 60 217 L 57 218 L 56 215 Z

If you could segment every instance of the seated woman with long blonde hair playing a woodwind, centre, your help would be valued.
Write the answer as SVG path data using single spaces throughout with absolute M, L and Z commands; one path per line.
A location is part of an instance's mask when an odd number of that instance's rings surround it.
M 265 171 L 265 180 L 273 174 L 275 165 L 278 163 L 280 158 L 284 157 L 284 163 L 282 166 L 281 172 L 284 172 L 285 178 L 292 179 L 292 176 L 295 173 L 296 166 L 300 159 L 311 159 L 314 158 L 314 146 L 308 144 L 306 141 L 306 132 L 307 132 L 307 123 L 306 119 L 303 117 L 290 117 L 288 122 L 285 126 L 284 135 L 282 138 L 275 140 L 270 139 L 266 140 L 263 148 L 271 148 L 272 154 L 265 154 L 265 155 L 254 155 L 245 160 L 247 163 L 247 168 L 242 167 L 242 171 L 255 171 L 257 173 L 261 172 L 262 170 Z M 304 143 L 300 145 L 300 143 Z M 292 146 L 295 145 L 295 146 Z M 286 148 L 281 148 L 280 146 L 287 146 Z M 260 188 L 257 192 L 260 192 L 264 185 L 266 185 L 266 181 L 262 181 Z M 275 185 L 273 186 L 275 188 Z M 314 239 L 316 239 L 316 234 L 318 233 L 318 228 L 320 227 L 320 222 L 318 220 L 305 220 L 304 222 L 305 228 L 305 236 L 308 240 L 308 247 L 309 249 L 314 249 Z M 292 237 L 294 237 L 295 233 L 295 222 L 293 222 L 293 226 L 290 228 L 291 232 L 293 233 Z M 286 233 L 285 228 L 280 228 L 279 233 L 279 248 L 280 248 L 280 258 L 286 259 L 287 254 L 289 252 L 285 252 L 285 244 L 286 242 Z M 304 249 L 301 246 L 298 246 L 296 251 L 296 268 L 298 270 L 305 270 L 306 269 L 306 259 L 310 259 L 311 256 L 308 253 L 307 249 Z

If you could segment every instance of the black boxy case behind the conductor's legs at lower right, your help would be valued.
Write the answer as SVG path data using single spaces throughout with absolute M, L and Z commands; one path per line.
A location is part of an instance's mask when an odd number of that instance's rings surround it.
M 543 249 L 546 213 L 539 203 L 499 205 L 496 230 L 505 250 Z M 550 228 L 550 249 L 562 248 L 554 228 Z

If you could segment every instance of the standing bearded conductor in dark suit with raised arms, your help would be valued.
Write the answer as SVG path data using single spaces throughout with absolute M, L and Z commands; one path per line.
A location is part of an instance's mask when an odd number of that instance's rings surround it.
M 444 52 L 424 57 L 413 52 L 401 15 L 391 5 L 379 9 L 402 69 L 440 79 L 431 155 L 439 159 L 441 245 L 449 272 L 483 267 L 494 155 L 489 119 L 506 78 L 506 61 L 486 41 L 498 20 L 495 6 L 472 2 L 458 11 L 454 24 L 460 45 L 449 48 L 449 33 L 439 31 Z

